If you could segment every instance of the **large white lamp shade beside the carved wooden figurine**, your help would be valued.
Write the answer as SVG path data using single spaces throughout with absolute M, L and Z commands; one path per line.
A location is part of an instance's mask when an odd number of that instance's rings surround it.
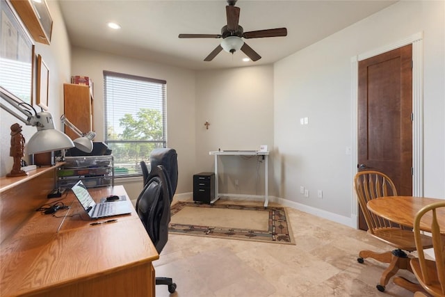
M 29 139 L 26 150 L 28 154 L 51 152 L 74 147 L 72 140 L 54 128 L 51 113 L 41 112 L 37 115 L 37 133 Z

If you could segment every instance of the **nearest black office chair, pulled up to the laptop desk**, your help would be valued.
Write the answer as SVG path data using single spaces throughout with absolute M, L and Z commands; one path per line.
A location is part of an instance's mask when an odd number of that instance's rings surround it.
M 171 157 L 173 154 L 176 156 L 175 150 L 163 149 L 163 152 L 155 154 L 154 160 L 165 161 L 170 159 L 169 156 Z M 176 168 L 177 172 L 177 163 L 172 162 L 170 166 Z M 164 166 L 162 164 L 153 166 L 152 164 L 152 170 L 147 177 L 147 184 L 145 184 L 136 201 L 136 212 L 159 254 L 161 254 L 165 243 L 168 241 L 170 203 L 174 194 L 170 192 L 170 188 L 172 188 L 170 177 L 168 177 L 168 172 Z M 158 277 L 156 278 L 156 284 L 167 285 L 170 293 L 174 293 L 177 287 L 172 278 Z

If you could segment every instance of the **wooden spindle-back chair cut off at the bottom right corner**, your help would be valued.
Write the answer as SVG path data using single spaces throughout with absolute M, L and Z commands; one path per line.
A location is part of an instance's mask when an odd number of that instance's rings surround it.
M 445 200 L 444 202 L 437 202 L 423 207 L 423 209 L 416 214 L 416 218 L 414 218 L 414 238 L 416 239 L 418 257 L 412 259 L 410 262 L 412 271 L 423 289 L 435 297 L 445 296 L 445 230 L 443 228 L 441 230 L 439 222 L 437 221 L 437 211 L 439 208 L 445 209 Z M 435 260 L 426 259 L 422 249 L 420 224 L 422 218 L 426 216 L 432 218 L 429 227 L 431 228 Z M 416 294 L 415 296 L 421 295 Z

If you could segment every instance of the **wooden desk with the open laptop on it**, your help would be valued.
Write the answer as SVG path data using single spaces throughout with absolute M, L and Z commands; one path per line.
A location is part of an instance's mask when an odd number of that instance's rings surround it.
M 122 186 L 90 193 L 96 200 L 127 195 Z M 159 255 L 136 211 L 113 217 L 115 223 L 90 225 L 71 191 L 62 201 L 71 209 L 57 217 L 34 211 L 1 242 L 0 295 L 154 296 L 152 261 Z M 8 221 L 1 224 L 3 229 Z

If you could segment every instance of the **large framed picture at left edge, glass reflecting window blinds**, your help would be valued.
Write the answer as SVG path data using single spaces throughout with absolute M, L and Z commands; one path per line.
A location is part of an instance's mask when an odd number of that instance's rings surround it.
M 34 44 L 9 1 L 0 1 L 0 86 L 33 104 Z

